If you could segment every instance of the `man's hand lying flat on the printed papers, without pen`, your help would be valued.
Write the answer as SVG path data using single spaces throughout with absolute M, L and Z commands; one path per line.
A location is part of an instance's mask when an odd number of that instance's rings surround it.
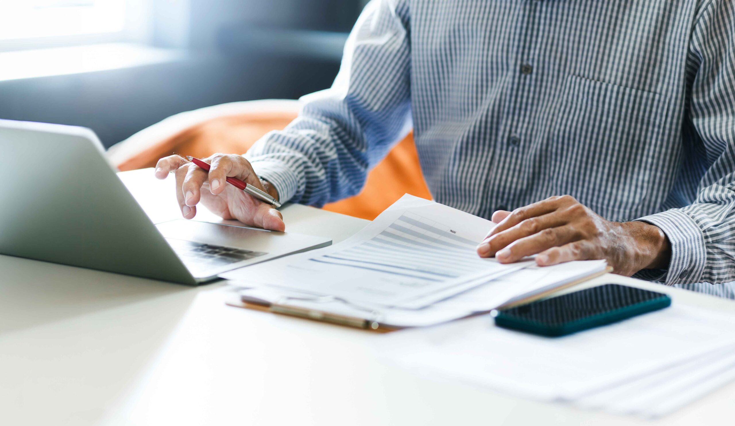
M 547 198 L 513 212 L 492 214 L 498 223 L 477 247 L 482 257 L 511 263 L 536 256 L 539 266 L 605 259 L 613 272 L 633 275 L 665 269 L 671 256 L 660 228 L 644 222 L 610 222 L 570 195 Z

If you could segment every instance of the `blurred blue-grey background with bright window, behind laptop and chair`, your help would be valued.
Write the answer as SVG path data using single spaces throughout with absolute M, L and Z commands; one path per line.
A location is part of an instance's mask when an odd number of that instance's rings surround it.
M 176 112 L 329 87 L 365 0 L 0 1 L 0 118 L 105 146 Z

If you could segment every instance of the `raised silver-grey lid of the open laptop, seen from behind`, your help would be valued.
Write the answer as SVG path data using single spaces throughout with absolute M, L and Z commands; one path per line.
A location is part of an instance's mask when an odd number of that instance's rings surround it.
M 0 120 L 0 254 L 196 284 L 90 129 Z

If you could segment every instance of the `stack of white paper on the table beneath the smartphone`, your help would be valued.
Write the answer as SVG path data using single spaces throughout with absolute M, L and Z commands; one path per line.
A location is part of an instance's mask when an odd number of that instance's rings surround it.
M 385 339 L 381 354 L 408 369 L 617 414 L 663 416 L 735 378 L 735 317 L 699 308 L 556 338 L 483 316 Z

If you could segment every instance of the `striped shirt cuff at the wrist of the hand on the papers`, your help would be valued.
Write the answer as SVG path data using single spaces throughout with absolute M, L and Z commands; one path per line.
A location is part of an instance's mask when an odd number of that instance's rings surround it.
M 702 281 L 707 263 L 707 250 L 702 231 L 692 217 L 680 209 L 672 209 L 637 220 L 661 228 L 671 245 L 671 261 L 668 270 L 662 275 L 656 274 L 661 271 L 649 271 L 650 274 L 644 275 L 658 276 L 647 278 L 663 281 L 669 286 Z

